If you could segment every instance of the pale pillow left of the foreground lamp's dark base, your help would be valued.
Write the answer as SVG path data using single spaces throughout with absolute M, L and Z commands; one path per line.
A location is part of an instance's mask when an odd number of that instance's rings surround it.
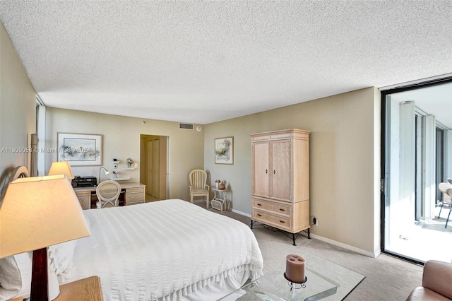
M 0 300 L 29 295 L 31 290 L 32 252 L 0 259 Z

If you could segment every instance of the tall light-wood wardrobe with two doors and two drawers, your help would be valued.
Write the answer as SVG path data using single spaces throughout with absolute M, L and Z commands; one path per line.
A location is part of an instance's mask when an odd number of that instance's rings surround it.
M 309 133 L 287 129 L 251 134 L 251 228 L 258 222 L 309 232 Z

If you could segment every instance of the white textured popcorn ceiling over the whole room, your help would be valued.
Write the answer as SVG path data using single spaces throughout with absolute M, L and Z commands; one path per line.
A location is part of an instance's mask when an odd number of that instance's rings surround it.
M 49 107 L 208 124 L 452 72 L 452 1 L 0 1 Z

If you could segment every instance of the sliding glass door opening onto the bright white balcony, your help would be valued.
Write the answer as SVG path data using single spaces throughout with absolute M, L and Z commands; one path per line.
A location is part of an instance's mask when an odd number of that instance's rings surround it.
M 452 177 L 452 81 L 381 93 L 383 252 L 451 261 L 452 226 L 437 206 Z

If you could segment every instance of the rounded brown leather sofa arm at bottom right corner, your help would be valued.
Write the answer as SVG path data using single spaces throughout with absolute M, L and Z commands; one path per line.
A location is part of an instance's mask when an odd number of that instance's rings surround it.
M 429 260 L 424 264 L 422 286 L 452 299 L 452 264 Z

